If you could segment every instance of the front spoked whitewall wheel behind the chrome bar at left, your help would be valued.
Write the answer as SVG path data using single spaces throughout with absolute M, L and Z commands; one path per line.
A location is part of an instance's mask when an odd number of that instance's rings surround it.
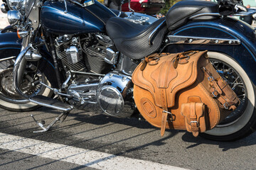
M 14 60 L 4 60 L 0 62 L 0 107 L 8 111 L 33 111 L 40 107 L 34 103 L 28 102 L 25 98 L 19 96 L 13 86 L 13 67 Z M 51 91 L 41 84 L 33 86 L 33 81 L 42 81 L 50 85 L 46 76 L 37 69 L 35 64 L 27 63 L 26 72 L 21 83 L 21 91 L 28 96 L 41 94 L 51 96 Z

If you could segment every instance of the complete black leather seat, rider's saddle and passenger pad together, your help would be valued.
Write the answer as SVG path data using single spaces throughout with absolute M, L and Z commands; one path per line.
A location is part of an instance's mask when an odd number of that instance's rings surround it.
M 112 17 L 106 23 L 107 35 L 114 41 L 119 52 L 132 59 L 142 59 L 159 50 L 167 28 L 174 30 L 186 24 L 189 17 L 200 13 L 218 13 L 218 4 L 210 1 L 179 1 L 169 9 L 166 18 L 161 18 L 149 26 Z M 213 18 L 215 16 L 202 16 L 195 20 L 206 21 Z M 166 23 L 154 34 L 152 45 L 149 45 L 149 35 L 165 20 Z

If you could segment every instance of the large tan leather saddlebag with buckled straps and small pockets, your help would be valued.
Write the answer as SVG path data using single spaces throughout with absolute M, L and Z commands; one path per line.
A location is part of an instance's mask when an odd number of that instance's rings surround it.
M 214 128 L 240 101 L 215 71 L 207 51 L 154 54 L 132 74 L 134 101 L 143 117 L 164 135 L 166 128 L 197 136 Z

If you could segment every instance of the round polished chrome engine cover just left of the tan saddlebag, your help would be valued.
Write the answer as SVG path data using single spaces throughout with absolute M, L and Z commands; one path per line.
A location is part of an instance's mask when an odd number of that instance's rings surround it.
M 134 113 L 131 79 L 123 74 L 109 73 L 100 81 L 97 101 L 104 113 L 117 118 L 127 118 Z

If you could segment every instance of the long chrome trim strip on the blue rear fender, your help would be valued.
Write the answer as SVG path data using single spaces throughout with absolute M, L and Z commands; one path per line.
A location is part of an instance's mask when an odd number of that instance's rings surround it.
M 181 35 L 168 35 L 170 44 L 204 44 L 204 45 L 240 45 L 238 39 L 223 39 L 223 38 L 204 38 L 190 37 Z

